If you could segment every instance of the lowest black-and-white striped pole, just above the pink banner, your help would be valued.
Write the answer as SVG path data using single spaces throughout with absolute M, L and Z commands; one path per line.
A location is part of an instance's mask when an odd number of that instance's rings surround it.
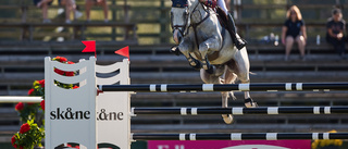
M 348 133 L 132 134 L 134 140 L 348 139 Z

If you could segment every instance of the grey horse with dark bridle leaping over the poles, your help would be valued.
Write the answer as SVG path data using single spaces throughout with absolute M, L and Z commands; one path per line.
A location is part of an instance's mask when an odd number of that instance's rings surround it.
M 189 65 L 200 70 L 206 84 L 234 84 L 238 78 L 249 84 L 249 58 L 246 47 L 238 50 L 228 32 L 222 26 L 216 12 L 199 0 L 172 0 L 171 26 L 173 39 Z M 233 91 L 222 91 L 222 107 L 228 107 L 228 98 L 235 99 Z M 245 105 L 257 107 L 245 91 Z M 232 114 L 222 115 L 226 124 L 233 122 Z

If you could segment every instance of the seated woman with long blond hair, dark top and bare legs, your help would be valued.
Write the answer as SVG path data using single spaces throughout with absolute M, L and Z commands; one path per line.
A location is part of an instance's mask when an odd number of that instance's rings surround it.
M 293 5 L 287 11 L 286 18 L 287 20 L 285 21 L 282 30 L 282 44 L 285 45 L 284 60 L 287 61 L 289 59 L 294 41 L 296 41 L 300 51 L 300 58 L 302 61 L 304 61 L 307 33 L 304 21 L 302 20 L 302 14 L 296 5 Z

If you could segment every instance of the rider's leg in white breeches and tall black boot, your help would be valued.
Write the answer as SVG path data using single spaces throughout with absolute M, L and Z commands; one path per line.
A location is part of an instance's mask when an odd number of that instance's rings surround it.
M 224 0 L 217 0 L 217 5 L 225 12 L 225 14 L 227 15 L 227 30 L 229 32 L 229 35 L 232 37 L 233 42 L 235 44 L 235 46 L 237 47 L 238 50 L 243 49 L 247 44 L 241 40 L 240 38 L 237 38 L 236 34 L 236 25 L 235 22 L 231 15 L 231 13 L 228 13 L 228 10 L 226 8 L 225 1 Z

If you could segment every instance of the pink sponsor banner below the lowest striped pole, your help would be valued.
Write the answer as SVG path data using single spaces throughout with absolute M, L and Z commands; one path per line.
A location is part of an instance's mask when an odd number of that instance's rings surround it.
M 148 149 L 311 149 L 311 140 L 149 140 Z

